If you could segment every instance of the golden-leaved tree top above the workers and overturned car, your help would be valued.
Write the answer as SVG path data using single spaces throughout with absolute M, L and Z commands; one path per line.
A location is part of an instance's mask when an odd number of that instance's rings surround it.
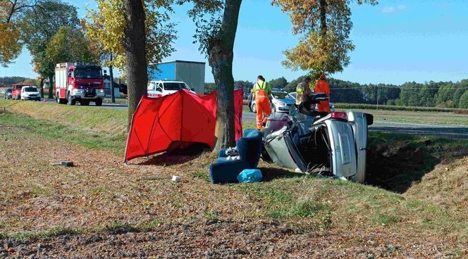
M 316 78 L 321 73 L 341 72 L 350 63 L 348 53 L 355 46 L 349 39 L 352 28 L 350 0 L 274 0 L 288 13 L 299 44 L 284 51 L 288 68 L 307 70 Z M 376 0 L 356 0 L 377 4 Z

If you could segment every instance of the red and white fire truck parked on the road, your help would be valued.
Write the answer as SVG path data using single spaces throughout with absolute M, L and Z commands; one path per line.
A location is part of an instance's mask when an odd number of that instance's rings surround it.
M 59 63 L 55 68 L 54 94 L 57 103 L 87 106 L 91 101 L 102 105 L 104 80 L 99 65 Z

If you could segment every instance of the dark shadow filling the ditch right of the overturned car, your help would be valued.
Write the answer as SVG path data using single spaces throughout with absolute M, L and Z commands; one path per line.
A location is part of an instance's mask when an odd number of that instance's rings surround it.
M 402 194 L 439 163 L 467 156 L 465 142 L 410 134 L 371 134 L 366 182 Z

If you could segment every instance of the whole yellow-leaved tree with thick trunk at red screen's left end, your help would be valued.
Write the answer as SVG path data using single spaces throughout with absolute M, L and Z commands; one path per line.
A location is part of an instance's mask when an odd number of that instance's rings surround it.
M 83 23 L 87 37 L 103 51 L 103 65 L 113 65 L 127 77 L 130 125 L 147 93 L 147 64 L 157 64 L 174 51 L 176 32 L 169 22 L 173 1 L 97 0 L 97 4 Z

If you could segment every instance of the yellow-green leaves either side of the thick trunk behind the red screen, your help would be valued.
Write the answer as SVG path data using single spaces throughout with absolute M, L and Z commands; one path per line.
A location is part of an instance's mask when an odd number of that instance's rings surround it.
M 174 23 L 170 23 L 173 1 L 144 1 L 147 63 L 159 63 L 174 51 Z M 86 35 L 96 44 L 94 50 L 103 65 L 113 65 L 124 72 L 123 49 L 125 14 L 123 0 L 98 0 L 96 10 L 88 10 L 82 20 Z M 112 55 L 112 58 L 111 58 Z

